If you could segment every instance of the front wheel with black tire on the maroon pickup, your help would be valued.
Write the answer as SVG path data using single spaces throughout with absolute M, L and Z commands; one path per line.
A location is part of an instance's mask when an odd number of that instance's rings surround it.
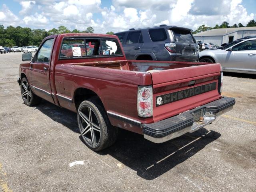
M 27 87 L 27 90 L 28 90 L 29 94 L 26 94 L 26 88 L 25 87 Z M 37 105 L 42 100 L 42 98 L 38 97 L 37 95 L 35 95 L 32 92 L 26 77 L 22 78 L 22 80 L 20 82 L 20 92 L 21 92 L 21 96 L 22 96 L 22 99 L 24 101 L 24 104 L 27 105 L 27 106 Z

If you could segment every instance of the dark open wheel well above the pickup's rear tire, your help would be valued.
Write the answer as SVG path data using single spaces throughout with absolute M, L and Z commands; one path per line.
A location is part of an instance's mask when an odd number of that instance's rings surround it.
M 80 103 L 92 97 L 96 97 L 103 106 L 103 103 L 100 100 L 100 97 L 95 92 L 86 88 L 78 88 L 74 93 L 74 104 L 76 106 L 76 110 L 78 110 Z

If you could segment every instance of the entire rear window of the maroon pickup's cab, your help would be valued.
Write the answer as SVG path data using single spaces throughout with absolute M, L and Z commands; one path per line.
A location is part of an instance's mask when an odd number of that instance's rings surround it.
M 108 38 L 64 38 L 59 58 L 100 56 L 122 56 L 118 41 Z

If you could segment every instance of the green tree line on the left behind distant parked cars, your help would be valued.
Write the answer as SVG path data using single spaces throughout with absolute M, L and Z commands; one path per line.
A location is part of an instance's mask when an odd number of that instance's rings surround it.
M 30 29 L 28 27 L 22 28 L 21 26 L 8 26 L 4 28 L 3 25 L 0 25 L 0 46 L 39 46 L 42 40 L 47 36 L 60 33 L 94 33 L 94 28 L 90 26 L 84 31 L 77 29 L 71 31 L 65 26 L 59 26 L 57 29 L 53 28 L 46 31 L 45 29 Z M 114 34 L 114 32 L 110 31 L 106 34 Z

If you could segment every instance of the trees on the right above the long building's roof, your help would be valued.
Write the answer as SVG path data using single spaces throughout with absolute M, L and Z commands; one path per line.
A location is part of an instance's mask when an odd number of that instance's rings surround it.
M 198 27 L 197 30 L 194 30 L 192 32 L 192 34 L 200 33 L 203 31 L 208 31 L 211 29 L 233 28 L 233 27 L 256 27 L 256 21 L 254 19 L 250 20 L 246 26 L 244 26 L 242 23 L 238 23 L 238 24 L 235 23 L 233 26 L 230 26 L 229 23 L 226 21 L 222 22 L 222 24 L 220 26 L 218 24 L 216 24 L 215 27 L 208 27 L 203 24 L 200 27 Z

